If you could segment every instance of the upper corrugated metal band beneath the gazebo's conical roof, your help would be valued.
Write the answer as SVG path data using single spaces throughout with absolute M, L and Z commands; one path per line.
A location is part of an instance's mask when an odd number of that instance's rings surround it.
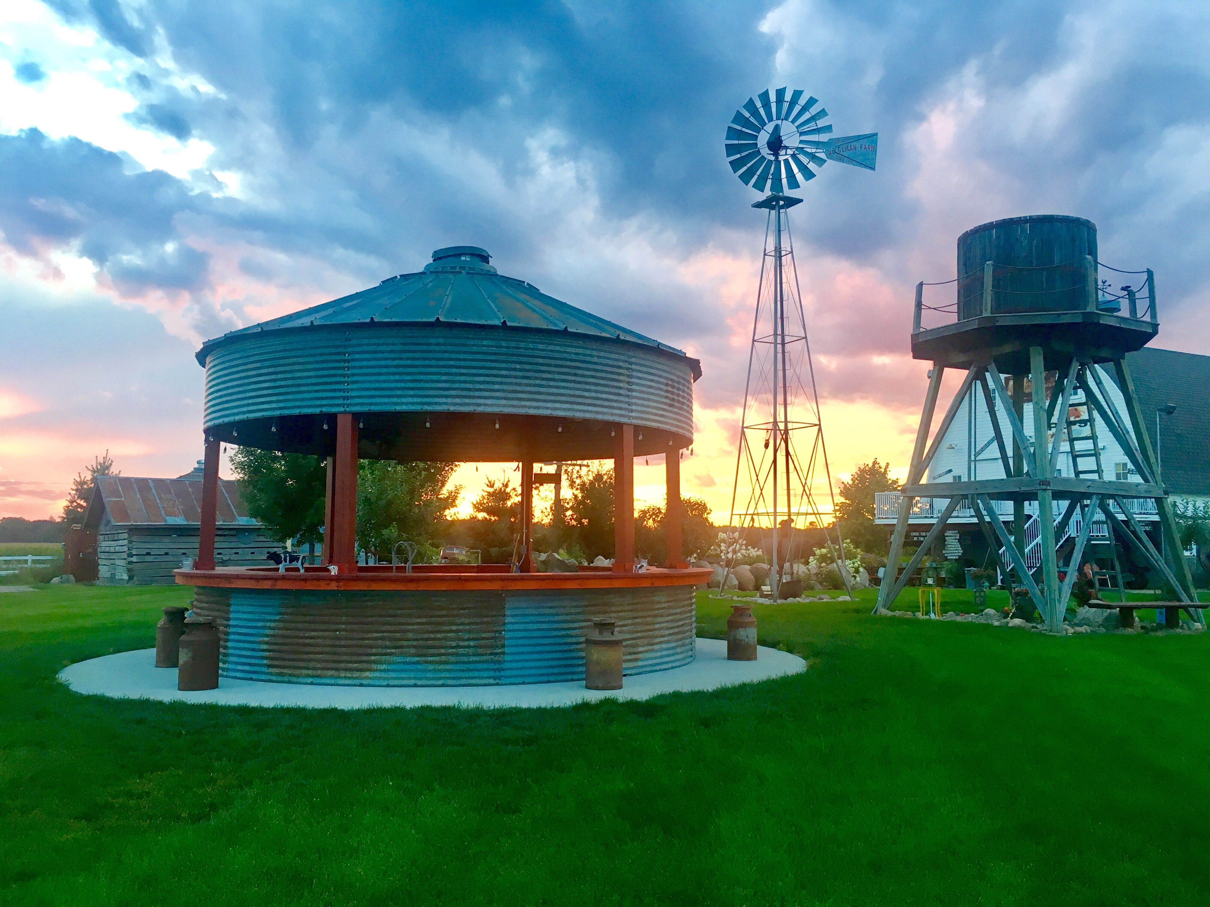
M 690 360 L 571 333 L 453 324 L 248 334 L 212 351 L 204 426 L 315 412 L 511 412 L 692 437 Z

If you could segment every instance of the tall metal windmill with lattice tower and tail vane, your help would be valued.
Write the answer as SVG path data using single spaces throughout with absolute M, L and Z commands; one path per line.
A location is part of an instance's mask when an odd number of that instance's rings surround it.
M 832 127 L 828 111 L 816 109 L 817 98 L 802 91 L 786 98 L 778 88 L 761 92 L 736 111 L 727 127 L 726 152 L 731 169 L 757 192 L 767 195 L 753 204 L 768 212 L 765 254 L 756 293 L 748 381 L 741 420 L 736 481 L 731 498 L 731 525 L 747 531 L 772 531 L 773 565 L 770 593 L 779 597 L 782 570 L 794 550 L 795 532 L 808 522 L 824 525 L 835 509 L 828 451 L 819 417 L 807 319 L 794 264 L 789 209 L 802 200 L 785 195 L 816 178 L 816 169 L 837 161 L 874 169 L 878 134 L 828 138 Z M 813 169 L 814 168 L 814 169 Z M 819 495 L 826 479 L 828 508 Z M 817 487 L 819 485 L 819 487 Z M 836 526 L 836 545 L 825 528 L 828 547 L 836 556 L 846 588 L 843 541 Z M 780 538 L 779 538 L 780 535 Z M 784 555 L 779 545 L 784 545 Z M 782 565 L 779 566 L 779 560 Z

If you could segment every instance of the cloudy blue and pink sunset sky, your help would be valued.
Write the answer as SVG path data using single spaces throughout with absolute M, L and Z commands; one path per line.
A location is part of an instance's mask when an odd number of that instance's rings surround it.
M 702 359 L 685 483 L 725 518 L 764 220 L 722 135 L 783 85 L 881 134 L 794 210 L 835 473 L 905 469 L 912 288 L 985 220 L 1093 219 L 1210 352 L 1208 39 L 1193 2 L 6 0 L 0 515 L 106 449 L 186 472 L 202 340 L 476 244 Z

